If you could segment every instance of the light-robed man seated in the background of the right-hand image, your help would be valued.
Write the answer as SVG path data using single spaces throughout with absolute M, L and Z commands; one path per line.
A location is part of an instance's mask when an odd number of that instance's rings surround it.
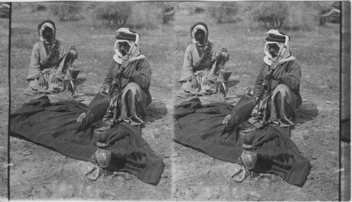
M 182 93 L 191 95 L 214 94 L 218 89 L 220 70 L 229 60 L 227 53 L 217 51 L 208 41 L 208 27 L 205 23 L 196 23 L 191 27 L 192 44 L 184 53 L 182 75 Z M 178 93 L 182 96 L 182 93 Z

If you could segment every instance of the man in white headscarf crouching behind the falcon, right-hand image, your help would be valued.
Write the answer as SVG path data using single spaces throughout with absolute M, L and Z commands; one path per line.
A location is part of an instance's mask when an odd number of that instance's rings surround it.
M 289 50 L 289 37 L 277 30 L 266 32 L 264 63 L 260 68 L 253 96 L 260 99 L 259 111 L 253 115 L 264 121 L 275 122 L 280 127 L 294 125 L 294 111 L 301 105 L 299 94 L 301 69 Z M 267 114 L 268 113 L 268 114 Z M 262 116 L 263 115 L 263 116 Z

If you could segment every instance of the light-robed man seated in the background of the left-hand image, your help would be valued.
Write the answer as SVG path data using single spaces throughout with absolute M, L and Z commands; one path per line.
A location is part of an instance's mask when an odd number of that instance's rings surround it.
M 34 44 L 30 59 L 25 94 L 57 93 L 63 90 L 67 72 L 66 54 L 61 42 L 56 39 L 56 27 L 51 20 L 44 20 L 37 27 L 39 42 Z

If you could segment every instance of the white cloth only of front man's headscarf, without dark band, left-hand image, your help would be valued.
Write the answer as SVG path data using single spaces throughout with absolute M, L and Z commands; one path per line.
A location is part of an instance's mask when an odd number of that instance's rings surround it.
M 115 51 L 115 55 L 113 56 L 113 59 L 116 63 L 119 63 L 121 64 L 122 63 L 122 59 L 126 56 L 122 56 L 122 54 L 120 53 L 120 51 L 118 51 L 118 46 L 119 46 L 119 42 L 127 42 L 129 45 L 130 45 L 130 51 L 128 51 L 131 56 L 130 56 L 130 59 L 129 61 L 132 62 L 132 61 L 137 61 L 139 59 L 142 59 L 142 58 L 146 58 L 146 56 L 144 56 L 141 51 L 139 50 L 139 34 L 137 33 L 133 33 L 131 32 L 128 28 L 125 28 L 125 27 L 122 27 L 118 30 L 116 30 L 116 32 L 118 32 L 118 34 L 120 32 L 125 32 L 125 33 L 128 33 L 128 34 L 134 34 L 136 35 L 136 41 L 130 41 L 130 40 L 124 40 L 124 39 L 117 39 L 116 42 L 115 42 L 115 45 L 113 46 L 113 49 Z

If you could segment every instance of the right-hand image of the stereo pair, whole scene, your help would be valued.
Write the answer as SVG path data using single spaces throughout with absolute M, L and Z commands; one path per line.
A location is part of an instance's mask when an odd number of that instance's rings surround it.
M 175 5 L 172 198 L 341 200 L 341 2 Z

